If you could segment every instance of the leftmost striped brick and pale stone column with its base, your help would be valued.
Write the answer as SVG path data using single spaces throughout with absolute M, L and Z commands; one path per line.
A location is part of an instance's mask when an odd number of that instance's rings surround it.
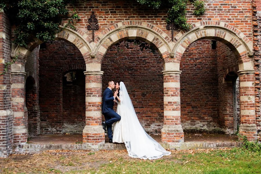
M 14 146 L 27 142 L 28 131 L 25 123 L 25 76 L 24 65 L 11 66 L 12 110 L 14 112 Z

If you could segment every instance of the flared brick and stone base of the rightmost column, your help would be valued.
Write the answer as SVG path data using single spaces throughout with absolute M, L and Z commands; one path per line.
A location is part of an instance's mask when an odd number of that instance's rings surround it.
M 255 124 L 240 124 L 239 134 L 246 136 L 249 141 L 257 139 L 257 128 Z

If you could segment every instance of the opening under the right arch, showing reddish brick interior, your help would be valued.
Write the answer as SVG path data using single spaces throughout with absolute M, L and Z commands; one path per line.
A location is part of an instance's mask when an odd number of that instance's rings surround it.
M 238 55 L 234 52 L 220 41 L 201 39 L 191 43 L 183 53 L 180 86 L 181 125 L 185 142 L 204 139 L 194 136 L 195 131 L 202 132 L 202 136 L 207 133 L 210 139 L 216 138 L 216 141 L 236 139 L 234 136 L 209 135 L 231 135 L 237 131 L 239 86 L 236 84 L 239 84 L 239 69 Z

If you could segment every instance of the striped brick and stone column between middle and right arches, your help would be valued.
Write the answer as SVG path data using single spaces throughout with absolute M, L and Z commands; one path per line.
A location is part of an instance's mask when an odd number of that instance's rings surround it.
M 161 141 L 169 148 L 177 148 L 184 142 L 180 113 L 180 70 L 165 70 L 164 89 L 164 125 L 161 129 Z

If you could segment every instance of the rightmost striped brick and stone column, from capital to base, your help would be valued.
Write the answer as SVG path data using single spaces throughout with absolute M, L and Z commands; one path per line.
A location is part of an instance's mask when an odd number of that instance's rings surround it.
M 254 141 L 257 138 L 254 70 L 240 70 L 238 73 L 241 118 L 239 133 L 245 135 L 249 141 Z

